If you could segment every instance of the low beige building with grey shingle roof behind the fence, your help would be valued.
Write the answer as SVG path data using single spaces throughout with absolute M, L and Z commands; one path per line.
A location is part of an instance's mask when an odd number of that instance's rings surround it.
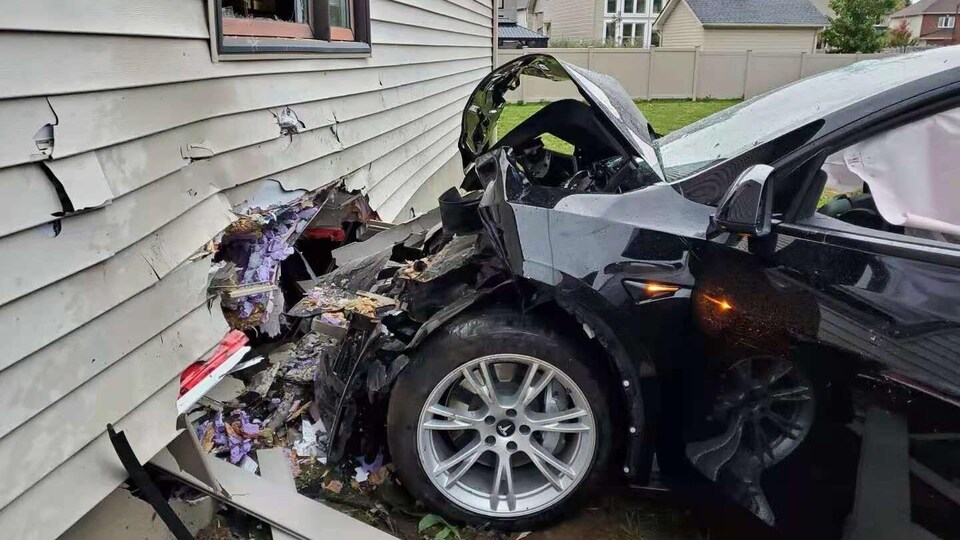
M 813 52 L 828 24 L 809 0 L 670 0 L 655 29 L 663 47 Z

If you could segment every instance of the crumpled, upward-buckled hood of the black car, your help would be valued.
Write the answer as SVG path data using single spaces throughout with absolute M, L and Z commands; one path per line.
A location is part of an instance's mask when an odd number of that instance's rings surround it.
M 660 161 L 650 135 L 650 124 L 627 92 L 613 77 L 594 73 L 547 54 L 530 54 L 500 66 L 487 75 L 467 101 L 460 132 L 460 155 L 464 169 L 496 142 L 497 119 L 506 104 L 505 95 L 520 85 L 520 76 L 551 81 L 571 81 L 604 121 L 610 134 L 634 157 L 647 162 L 663 178 Z

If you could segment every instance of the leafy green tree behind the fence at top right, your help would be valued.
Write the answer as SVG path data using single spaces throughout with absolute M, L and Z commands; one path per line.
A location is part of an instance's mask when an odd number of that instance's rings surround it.
M 823 41 L 840 53 L 879 52 L 887 40 L 877 25 L 896 7 L 897 0 L 830 0 L 837 16 L 823 31 Z

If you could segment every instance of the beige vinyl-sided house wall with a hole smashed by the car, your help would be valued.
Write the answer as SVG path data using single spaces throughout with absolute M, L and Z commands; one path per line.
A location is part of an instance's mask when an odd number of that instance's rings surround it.
M 0 18 L 4 538 L 56 538 L 125 479 L 107 423 L 142 461 L 173 438 L 180 372 L 227 331 L 191 255 L 261 180 L 344 179 L 388 220 L 459 183 L 491 0 L 371 13 L 368 58 L 219 63 L 204 0 L 33 0 Z M 281 135 L 285 107 L 299 133 Z M 55 183 L 88 210 L 59 217 Z

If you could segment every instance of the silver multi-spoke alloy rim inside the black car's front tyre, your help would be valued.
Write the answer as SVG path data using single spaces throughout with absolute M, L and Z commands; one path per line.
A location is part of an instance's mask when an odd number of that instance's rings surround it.
M 596 423 L 586 396 L 530 356 L 477 358 L 450 372 L 420 413 L 417 448 L 451 502 L 491 517 L 542 511 L 586 477 Z

